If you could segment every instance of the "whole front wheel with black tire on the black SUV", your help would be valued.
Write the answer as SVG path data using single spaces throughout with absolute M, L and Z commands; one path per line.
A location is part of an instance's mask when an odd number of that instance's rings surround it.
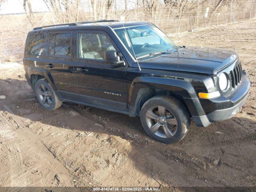
M 162 110 L 163 107 L 165 110 Z M 149 136 L 166 144 L 182 140 L 190 128 L 188 110 L 172 96 L 154 96 L 147 100 L 141 108 L 140 120 Z M 169 132 L 166 128 L 169 128 Z

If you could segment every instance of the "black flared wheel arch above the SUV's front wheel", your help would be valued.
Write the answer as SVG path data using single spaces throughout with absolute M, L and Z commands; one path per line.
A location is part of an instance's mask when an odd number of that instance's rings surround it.
M 130 116 L 139 116 L 143 104 L 157 95 L 177 98 L 188 109 L 190 116 L 194 115 L 198 110 L 202 110 L 202 106 L 190 82 L 171 78 L 138 77 L 133 80 L 129 90 L 128 110 Z M 196 100 L 195 103 L 192 103 L 188 98 L 194 98 Z

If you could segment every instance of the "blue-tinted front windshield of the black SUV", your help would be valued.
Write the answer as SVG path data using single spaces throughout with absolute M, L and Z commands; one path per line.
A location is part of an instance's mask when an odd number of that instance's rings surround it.
M 176 48 L 176 44 L 153 25 L 135 26 L 115 30 L 126 48 L 136 58 L 149 56 L 156 52 L 166 52 Z M 133 53 L 133 50 L 134 53 Z

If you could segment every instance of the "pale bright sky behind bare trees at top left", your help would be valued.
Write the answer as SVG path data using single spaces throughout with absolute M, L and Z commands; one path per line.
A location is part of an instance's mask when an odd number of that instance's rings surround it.
M 48 11 L 43 0 L 30 0 L 32 11 Z M 23 0 L 8 0 L 1 4 L 0 14 L 24 13 Z

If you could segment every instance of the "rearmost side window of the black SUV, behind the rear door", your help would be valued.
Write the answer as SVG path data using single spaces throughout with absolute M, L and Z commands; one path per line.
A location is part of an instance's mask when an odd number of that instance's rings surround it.
M 44 34 L 30 35 L 28 40 L 28 54 L 42 56 L 44 50 Z

